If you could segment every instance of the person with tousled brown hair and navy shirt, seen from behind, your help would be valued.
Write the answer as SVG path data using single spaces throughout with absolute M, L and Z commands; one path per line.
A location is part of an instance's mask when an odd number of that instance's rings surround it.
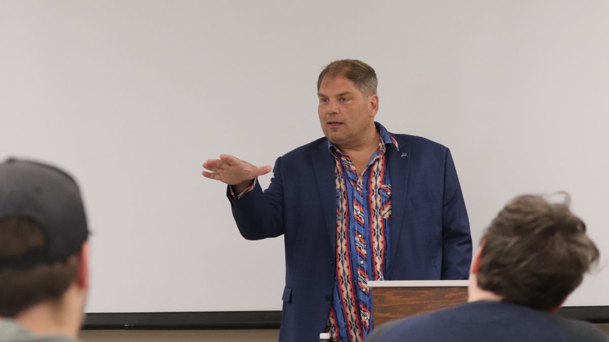
M 367 342 L 607 342 L 593 324 L 555 314 L 599 259 L 568 202 L 516 197 L 482 237 L 467 304 L 385 324 Z

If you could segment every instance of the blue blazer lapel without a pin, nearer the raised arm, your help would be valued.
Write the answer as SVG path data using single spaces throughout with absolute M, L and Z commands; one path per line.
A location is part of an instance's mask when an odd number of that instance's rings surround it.
M 319 150 L 312 152 L 313 170 L 319 191 L 320 203 L 326 221 L 326 228 L 332 243 L 336 248 L 336 184 L 334 183 L 334 169 L 336 161 L 328 149 L 328 141 L 323 139 Z

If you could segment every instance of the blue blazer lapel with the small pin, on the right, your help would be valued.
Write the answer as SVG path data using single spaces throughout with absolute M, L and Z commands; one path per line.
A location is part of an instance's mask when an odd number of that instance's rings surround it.
M 396 137 L 400 151 L 395 146 L 387 148 L 387 159 L 389 162 L 389 177 L 391 179 L 391 232 L 390 232 L 390 260 L 394 259 L 400 240 L 400 232 L 404 230 L 404 212 L 408 210 L 406 205 L 406 194 L 408 184 L 408 171 L 410 166 L 410 147 L 404 141 Z M 386 265 L 389 269 L 389 265 Z

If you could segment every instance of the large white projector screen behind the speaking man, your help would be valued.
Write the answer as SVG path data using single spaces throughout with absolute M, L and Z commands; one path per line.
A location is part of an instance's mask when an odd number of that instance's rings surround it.
M 317 75 L 359 58 L 379 122 L 451 148 L 474 244 L 510 198 L 567 190 L 602 252 L 567 305 L 609 305 L 607 18 L 605 0 L 2 1 L 0 158 L 79 180 L 88 312 L 280 310 L 283 239 L 242 239 L 201 164 L 322 136 Z

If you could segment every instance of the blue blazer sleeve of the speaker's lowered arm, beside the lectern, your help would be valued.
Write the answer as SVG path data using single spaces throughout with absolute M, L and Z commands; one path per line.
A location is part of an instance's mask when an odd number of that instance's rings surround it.
M 442 279 L 468 279 L 471 265 L 470 221 L 457 170 L 446 148 L 442 207 Z

